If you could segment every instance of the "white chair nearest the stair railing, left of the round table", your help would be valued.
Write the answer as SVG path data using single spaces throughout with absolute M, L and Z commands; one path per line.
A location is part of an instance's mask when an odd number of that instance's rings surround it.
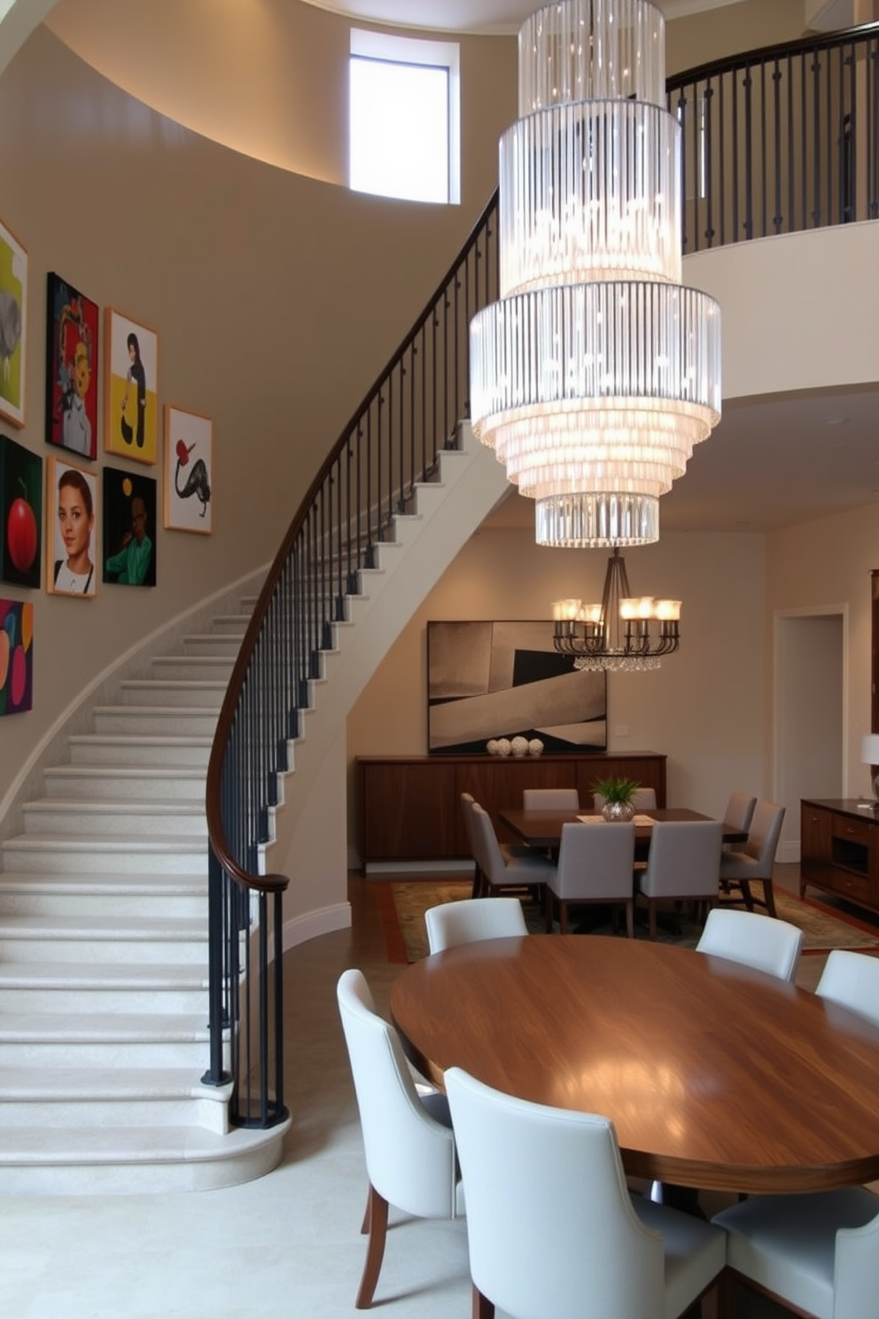
M 385 1256 L 387 1206 L 423 1219 L 452 1219 L 463 1212 L 463 1196 L 445 1097 L 419 1095 L 399 1037 L 376 1013 L 362 972 L 344 971 L 336 998 L 369 1178 L 362 1225 L 369 1245 L 354 1302 L 368 1310 Z

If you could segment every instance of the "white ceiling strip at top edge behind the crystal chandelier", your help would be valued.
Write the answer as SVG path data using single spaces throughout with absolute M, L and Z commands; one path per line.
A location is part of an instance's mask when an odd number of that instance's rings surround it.
M 530 15 L 540 9 L 538 0 L 304 0 L 361 22 L 381 22 L 391 28 L 424 28 L 434 32 L 510 36 Z M 721 9 L 738 0 L 655 0 L 667 18 L 680 18 L 704 9 Z

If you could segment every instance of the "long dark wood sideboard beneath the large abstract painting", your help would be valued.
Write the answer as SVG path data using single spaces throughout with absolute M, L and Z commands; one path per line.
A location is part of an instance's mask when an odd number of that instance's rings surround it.
M 469 857 L 461 793 L 492 815 L 522 805 L 523 787 L 576 787 L 584 810 L 596 778 L 619 774 L 654 787 L 666 805 L 666 757 L 655 752 L 584 756 L 362 756 L 357 760 L 360 864 Z

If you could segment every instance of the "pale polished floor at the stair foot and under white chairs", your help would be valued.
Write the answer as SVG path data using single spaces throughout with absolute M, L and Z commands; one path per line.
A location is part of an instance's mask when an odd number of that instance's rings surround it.
M 285 960 L 294 1124 L 282 1165 L 223 1191 L 7 1199 L 0 1314 L 353 1319 L 365 1173 L 335 985 L 345 967 L 357 966 L 386 1008 L 401 967 L 387 960 L 376 893 L 374 884 L 352 876 L 352 929 L 303 944 Z M 391 1215 L 376 1308 L 399 1319 L 467 1319 L 469 1295 L 464 1223 Z M 739 1298 L 737 1319 L 780 1314 L 752 1295 Z

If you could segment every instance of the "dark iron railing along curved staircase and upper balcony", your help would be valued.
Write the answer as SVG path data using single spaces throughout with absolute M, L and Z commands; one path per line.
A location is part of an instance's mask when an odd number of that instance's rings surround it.
M 879 216 L 879 24 L 705 65 L 668 83 L 683 125 L 685 251 Z M 207 778 L 211 1060 L 231 1121 L 283 1101 L 282 894 L 264 874 L 278 777 L 362 568 L 469 415 L 469 321 L 498 295 L 497 194 L 345 426 L 283 538 L 241 644 Z M 295 783 L 294 783 L 295 789 Z

